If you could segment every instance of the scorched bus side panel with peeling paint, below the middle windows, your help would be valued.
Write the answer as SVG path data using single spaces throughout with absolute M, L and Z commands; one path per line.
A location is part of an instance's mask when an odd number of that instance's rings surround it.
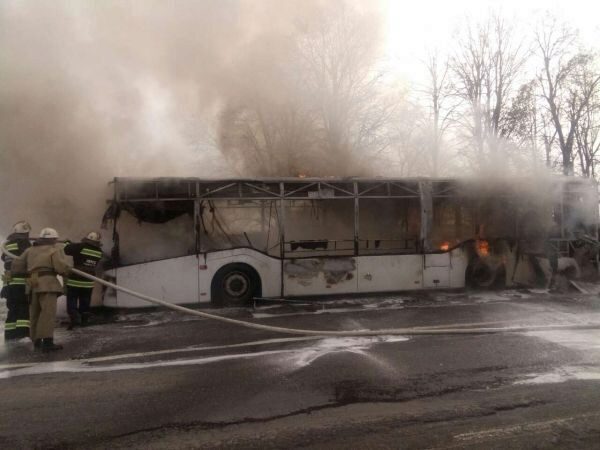
M 356 258 L 288 259 L 283 264 L 286 296 L 351 294 L 357 289 Z

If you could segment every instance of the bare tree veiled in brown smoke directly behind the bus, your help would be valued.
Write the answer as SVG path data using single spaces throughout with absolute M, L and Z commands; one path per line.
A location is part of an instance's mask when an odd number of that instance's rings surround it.
M 323 7 L 286 37 L 285 55 L 263 58 L 269 78 L 257 83 L 262 91 L 245 87 L 221 114 L 219 147 L 238 172 L 369 173 L 367 160 L 392 143 L 396 109 L 376 67 L 374 20 L 348 5 Z

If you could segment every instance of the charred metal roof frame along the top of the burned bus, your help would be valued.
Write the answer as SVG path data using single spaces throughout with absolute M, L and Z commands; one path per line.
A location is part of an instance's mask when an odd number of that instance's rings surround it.
M 523 178 L 498 179 L 497 187 L 511 197 L 516 182 Z M 595 188 L 593 180 L 576 177 L 552 177 L 563 183 L 569 193 Z M 421 198 L 424 186 L 433 198 L 462 197 L 457 192 L 469 185 L 489 180 L 477 178 L 129 178 L 115 177 L 112 202 L 185 201 L 185 200 L 318 200 L 352 198 Z M 573 189 L 575 187 L 583 190 Z M 499 189 L 502 190 L 502 189 Z M 597 188 L 596 188 L 597 192 Z

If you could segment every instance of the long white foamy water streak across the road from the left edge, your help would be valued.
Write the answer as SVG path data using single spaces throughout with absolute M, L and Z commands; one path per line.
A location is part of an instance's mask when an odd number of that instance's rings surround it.
M 291 340 L 291 339 L 289 339 Z M 297 338 L 297 340 L 308 340 L 307 338 Z M 380 336 L 380 337 L 357 337 L 357 338 L 325 338 L 317 340 L 314 345 L 304 348 L 292 348 L 292 349 L 278 349 L 278 350 L 262 350 L 257 352 L 248 353 L 235 353 L 218 356 L 206 356 L 198 358 L 186 358 L 186 359 L 175 359 L 175 360 L 160 360 L 151 362 L 139 362 L 139 363 L 117 363 L 117 364 L 98 364 L 101 361 L 118 358 L 143 358 L 154 356 L 156 354 L 164 353 L 176 353 L 182 351 L 207 351 L 217 350 L 229 347 L 240 347 L 250 345 L 264 345 L 266 343 L 278 343 L 282 342 L 282 339 L 274 339 L 272 342 L 268 341 L 257 341 L 254 343 L 243 343 L 234 344 L 232 346 L 217 346 L 217 347 L 201 347 L 198 349 L 186 347 L 184 349 L 172 349 L 170 351 L 159 351 L 159 352 L 146 352 L 136 353 L 129 355 L 113 355 L 108 357 L 90 358 L 85 360 L 70 360 L 70 361 L 55 361 L 48 363 L 35 363 L 22 367 L 22 365 L 15 366 L 4 366 L 3 370 L 0 371 L 0 379 L 7 379 L 17 376 L 25 375 L 40 375 L 47 373 L 57 372 L 113 372 L 120 370 L 140 370 L 150 369 L 157 367 L 173 367 L 173 366 L 192 366 L 192 365 L 203 365 L 211 364 L 222 361 L 241 360 L 241 359 L 252 359 L 260 358 L 264 356 L 274 355 L 286 355 L 285 361 L 291 362 L 293 367 L 304 367 L 310 365 L 318 358 L 328 355 L 331 353 L 351 352 L 369 357 L 368 359 L 373 361 L 371 355 L 366 351 L 374 345 L 382 343 L 393 343 L 408 341 L 408 338 L 401 336 Z

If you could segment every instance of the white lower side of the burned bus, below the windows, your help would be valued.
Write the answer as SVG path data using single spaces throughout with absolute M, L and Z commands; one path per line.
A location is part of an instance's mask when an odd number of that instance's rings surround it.
M 468 264 L 467 255 L 459 248 L 436 255 L 311 258 L 300 261 L 323 262 L 324 267 L 323 270 L 304 270 L 299 276 L 293 270 L 296 264 L 286 261 L 284 266 L 292 266 L 284 269 L 283 274 L 286 297 L 463 288 Z M 326 276 L 328 262 L 336 268 L 336 264 L 345 263 L 353 264 L 354 268 L 346 271 L 339 282 L 329 283 Z M 281 261 L 251 248 L 151 261 L 120 267 L 109 273 L 120 285 L 134 291 L 153 295 L 169 303 L 190 304 L 210 302 L 210 286 L 215 273 L 233 263 L 248 264 L 258 272 L 263 297 L 281 297 Z M 149 305 L 137 297 L 117 292 L 116 295 L 105 296 L 104 306 L 141 308 Z

